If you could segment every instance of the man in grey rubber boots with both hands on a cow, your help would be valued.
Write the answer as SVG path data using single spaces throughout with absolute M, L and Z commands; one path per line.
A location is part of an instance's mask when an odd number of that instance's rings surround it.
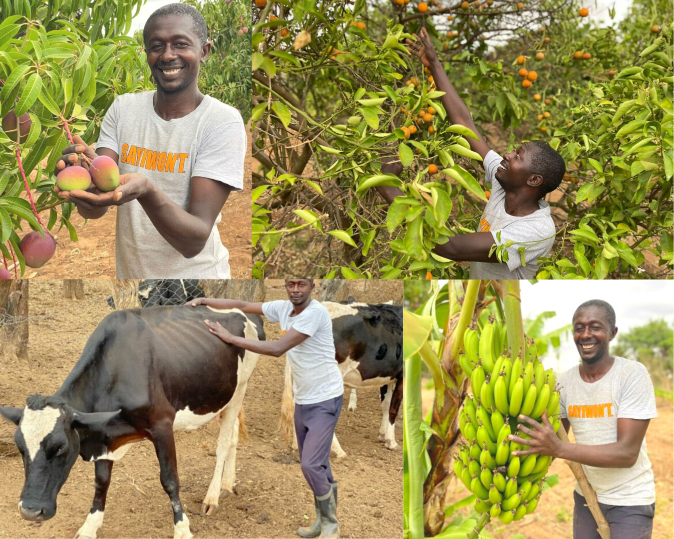
M 313 279 L 286 279 L 288 300 L 249 303 L 232 299 L 197 298 L 190 305 L 239 309 L 265 315 L 281 326 L 281 338 L 257 341 L 233 336 L 220 323 L 204 320 L 224 342 L 251 352 L 278 357 L 286 354 L 293 371 L 295 434 L 302 472 L 313 491 L 316 520 L 299 528 L 301 537 L 337 538 L 337 482 L 330 470 L 330 445 L 342 410 L 344 381 L 335 357 L 332 319 L 328 309 L 311 299 Z

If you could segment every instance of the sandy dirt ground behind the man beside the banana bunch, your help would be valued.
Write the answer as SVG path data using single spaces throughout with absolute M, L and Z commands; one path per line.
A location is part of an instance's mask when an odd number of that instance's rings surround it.
M 424 410 L 433 403 L 433 391 L 424 391 Z M 425 413 L 425 412 L 424 412 Z M 573 436 L 570 436 L 573 440 Z M 672 461 L 672 441 L 674 439 L 674 412 L 671 402 L 658 398 L 658 418 L 650 420 L 646 432 L 648 458 L 655 476 L 655 518 L 653 520 L 652 539 L 672 539 L 673 536 L 673 485 L 674 472 Z M 574 525 L 574 488 L 576 478 L 571 469 L 560 459 L 550 466 L 549 476 L 557 474 L 559 483 L 546 490 L 536 511 L 522 521 L 505 526 L 496 519 L 487 525 L 495 539 L 508 539 L 514 534 L 522 534 L 524 539 L 570 539 Z M 468 495 L 464 484 L 452 480 L 448 488 L 447 504 Z M 542 503 L 545 501 L 545 503 Z M 460 509 L 464 516 L 470 513 L 470 507 Z M 456 516 L 456 515 L 455 515 Z M 450 519 L 453 517 L 450 517 Z

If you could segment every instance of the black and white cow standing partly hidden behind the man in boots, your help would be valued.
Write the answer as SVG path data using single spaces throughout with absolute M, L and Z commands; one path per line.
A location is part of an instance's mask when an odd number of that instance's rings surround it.
M 355 389 L 380 387 L 381 426 L 379 440 L 387 449 L 396 449 L 396 416 L 402 402 L 402 306 L 386 303 L 321 302 L 332 319 L 336 359 L 344 385 L 352 389 L 349 407 L 355 409 Z M 286 361 L 281 423 L 286 437 L 293 431 L 293 386 Z M 297 447 L 296 443 L 295 446 Z M 336 435 L 332 451 L 346 456 Z

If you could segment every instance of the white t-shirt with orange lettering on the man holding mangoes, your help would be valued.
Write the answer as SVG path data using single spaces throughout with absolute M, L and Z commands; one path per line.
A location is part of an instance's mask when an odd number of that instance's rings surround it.
M 116 152 L 121 174 L 146 175 L 183 210 L 193 177 L 242 189 L 246 134 L 239 111 L 204 96 L 191 113 L 167 121 L 154 111 L 154 94 L 118 96 L 105 113 L 96 148 Z M 220 220 L 218 214 L 215 223 Z M 157 231 L 139 201 L 122 204 L 115 230 L 117 278 L 230 278 L 229 253 L 215 223 L 202 252 L 187 259 Z

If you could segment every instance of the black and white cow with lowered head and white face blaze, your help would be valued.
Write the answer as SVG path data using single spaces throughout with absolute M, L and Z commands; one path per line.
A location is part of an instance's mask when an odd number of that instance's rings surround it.
M 171 499 L 174 537 L 191 538 L 179 497 L 173 433 L 196 429 L 222 412 L 215 472 L 202 505 L 206 514 L 216 511 L 221 490 L 233 491 L 239 411 L 258 354 L 211 335 L 205 318 L 234 335 L 265 338 L 262 318 L 237 309 L 184 305 L 115 311 L 94 330 L 54 395 L 33 395 L 24 408 L 0 408 L 18 425 L 24 519 L 56 514 L 59 490 L 80 455 L 95 463 L 96 488 L 76 537 L 96 538 L 114 462 L 129 444 L 148 439 Z

